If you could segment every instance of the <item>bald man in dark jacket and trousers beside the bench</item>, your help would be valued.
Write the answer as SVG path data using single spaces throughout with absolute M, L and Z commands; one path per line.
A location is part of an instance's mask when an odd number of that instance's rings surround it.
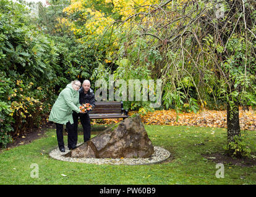
M 90 81 L 83 81 L 82 87 L 79 89 L 79 103 L 82 105 L 84 103 L 90 103 L 92 107 L 95 107 L 95 95 L 93 90 L 90 88 Z M 77 126 L 78 119 L 80 117 L 81 124 L 83 126 L 83 141 L 87 142 L 91 137 L 91 122 L 89 113 L 73 113 L 74 119 L 74 131 L 75 131 L 75 142 L 77 143 Z

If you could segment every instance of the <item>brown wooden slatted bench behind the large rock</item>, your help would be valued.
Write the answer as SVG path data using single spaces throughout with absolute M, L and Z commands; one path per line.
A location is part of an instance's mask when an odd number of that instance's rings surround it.
M 124 110 L 122 102 L 95 102 L 95 108 L 89 113 L 90 119 L 122 118 L 129 117 Z

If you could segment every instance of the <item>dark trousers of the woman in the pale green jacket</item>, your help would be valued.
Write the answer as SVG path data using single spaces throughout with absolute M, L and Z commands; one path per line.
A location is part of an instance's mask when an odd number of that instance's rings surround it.
M 67 147 L 74 148 L 75 147 L 74 124 L 70 124 L 70 122 L 66 123 L 66 129 L 67 129 Z M 61 150 L 61 148 L 64 148 L 63 124 L 56 123 L 56 134 L 57 134 L 59 150 Z

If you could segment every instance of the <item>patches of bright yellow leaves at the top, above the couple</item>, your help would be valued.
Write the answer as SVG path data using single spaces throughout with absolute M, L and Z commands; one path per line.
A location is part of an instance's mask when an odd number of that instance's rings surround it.
M 62 11 L 67 15 L 71 15 L 79 12 L 80 17 L 77 18 L 76 21 L 72 21 L 69 19 L 58 18 L 60 24 L 64 24 L 69 26 L 70 30 L 73 31 L 77 37 L 77 41 L 80 43 L 87 43 L 88 41 L 101 41 L 102 36 L 105 34 L 111 33 L 111 47 L 108 46 L 108 50 L 106 51 L 106 57 L 111 59 L 110 57 L 114 54 L 114 51 L 118 49 L 119 43 L 117 40 L 121 38 L 121 34 L 119 31 L 111 32 L 112 28 L 109 28 L 116 20 L 113 16 L 120 15 L 119 18 L 125 20 L 130 15 L 137 14 L 139 12 L 148 12 L 150 9 L 155 9 L 155 7 L 151 7 L 153 4 L 159 4 L 160 0 L 97 0 L 101 3 L 102 6 L 112 7 L 112 13 L 104 13 L 101 10 L 95 9 L 93 5 L 95 5 L 95 0 L 71 0 L 70 6 L 64 8 Z M 183 1 L 181 1 L 183 2 Z M 142 15 L 142 22 L 149 23 L 149 20 L 153 20 L 153 18 L 149 19 Z M 81 24 L 83 25 L 77 25 Z M 116 26 L 115 26 L 116 27 Z M 122 31 L 129 30 L 130 24 L 124 23 L 122 24 Z M 106 32 L 107 31 L 107 32 Z M 84 35 L 84 36 L 83 36 Z M 107 45 L 108 42 L 95 42 L 93 44 L 94 47 L 98 47 L 99 50 L 103 50 L 103 44 Z M 90 47 L 90 46 L 89 46 Z M 106 62 L 107 63 L 107 62 Z

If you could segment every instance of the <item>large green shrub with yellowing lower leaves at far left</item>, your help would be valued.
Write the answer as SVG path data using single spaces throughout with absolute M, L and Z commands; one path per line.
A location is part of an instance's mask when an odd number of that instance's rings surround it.
M 0 145 L 6 146 L 11 135 L 39 126 L 42 112 L 49 111 L 58 53 L 54 42 L 28 23 L 25 6 L 3 0 L 0 13 Z

